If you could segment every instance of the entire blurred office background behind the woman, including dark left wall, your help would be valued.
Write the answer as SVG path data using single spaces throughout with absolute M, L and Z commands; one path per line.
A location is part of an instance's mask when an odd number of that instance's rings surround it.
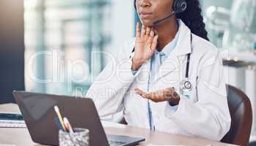
M 201 4 L 208 37 L 232 63 L 227 82 L 255 111 L 256 0 Z M 138 20 L 133 0 L 1 0 L 0 18 L 0 103 L 14 102 L 12 90 L 84 96 Z

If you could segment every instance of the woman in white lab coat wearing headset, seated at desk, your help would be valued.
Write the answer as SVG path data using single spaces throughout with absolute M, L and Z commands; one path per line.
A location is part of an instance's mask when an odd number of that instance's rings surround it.
M 208 42 L 199 0 L 136 0 L 142 28 L 87 92 L 100 118 L 220 140 L 230 129 L 222 57 Z

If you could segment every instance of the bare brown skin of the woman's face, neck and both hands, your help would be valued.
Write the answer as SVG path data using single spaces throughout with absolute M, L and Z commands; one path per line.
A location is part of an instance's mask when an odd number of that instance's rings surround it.
M 178 24 L 175 15 L 172 18 L 153 26 L 153 22 L 165 18 L 172 12 L 173 0 L 136 0 L 136 9 L 139 18 L 143 24 L 140 28 L 139 23 L 136 26 L 136 42 L 134 57 L 132 58 L 132 70 L 137 70 L 149 60 L 155 53 L 175 38 L 178 32 Z M 161 91 L 145 93 L 139 88 L 135 89 L 135 93 L 145 99 L 161 102 L 169 101 L 172 105 L 178 105 L 180 96 L 173 88 L 166 88 Z

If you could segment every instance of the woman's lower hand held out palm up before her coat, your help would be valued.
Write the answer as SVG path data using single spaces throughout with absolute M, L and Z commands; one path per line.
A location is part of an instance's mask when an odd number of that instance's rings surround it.
M 169 101 L 172 106 L 178 105 L 180 102 L 180 96 L 174 91 L 173 88 L 166 88 L 164 90 L 151 93 L 145 93 L 139 88 L 136 88 L 135 93 L 154 102 Z

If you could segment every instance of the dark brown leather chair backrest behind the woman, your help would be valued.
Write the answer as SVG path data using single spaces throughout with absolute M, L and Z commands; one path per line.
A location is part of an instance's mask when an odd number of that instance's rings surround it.
M 248 145 L 252 129 L 252 105 L 244 92 L 227 85 L 227 101 L 230 108 L 231 127 L 222 142 Z

